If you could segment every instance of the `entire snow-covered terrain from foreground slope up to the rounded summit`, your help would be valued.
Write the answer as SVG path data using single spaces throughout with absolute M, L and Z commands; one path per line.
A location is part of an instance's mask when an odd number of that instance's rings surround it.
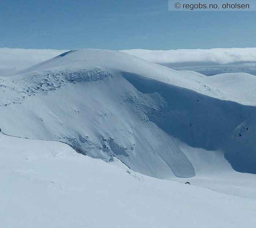
M 23 53 L 0 71 L 1 227 L 256 223 L 256 76 Z

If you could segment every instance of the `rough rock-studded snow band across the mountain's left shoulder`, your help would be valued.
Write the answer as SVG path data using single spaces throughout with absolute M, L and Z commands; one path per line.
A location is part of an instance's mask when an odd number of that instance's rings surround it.
M 0 106 L 8 106 L 11 104 L 21 104 L 31 95 L 36 95 L 38 92 L 48 94 L 50 91 L 55 91 L 66 83 L 76 83 L 82 81 L 97 81 L 104 79 L 105 77 L 111 77 L 112 74 L 106 72 L 102 69 L 95 68 L 93 70 L 80 69 L 78 71 L 69 71 L 65 69 L 64 71 L 52 72 L 45 71 L 44 73 L 33 73 L 32 75 L 26 77 L 20 76 L 12 77 L 12 81 L 0 78 L 0 87 L 2 87 L 4 93 L 8 93 L 10 90 L 15 98 L 3 97 Z M 6 83 L 6 84 L 5 84 Z M 23 87 L 15 87 L 16 84 L 22 85 Z

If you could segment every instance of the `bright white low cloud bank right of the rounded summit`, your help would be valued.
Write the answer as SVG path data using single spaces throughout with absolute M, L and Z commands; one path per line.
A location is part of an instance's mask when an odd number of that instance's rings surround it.
M 129 49 L 121 50 L 121 52 L 163 65 L 181 63 L 222 65 L 256 62 L 256 47 L 177 50 Z

